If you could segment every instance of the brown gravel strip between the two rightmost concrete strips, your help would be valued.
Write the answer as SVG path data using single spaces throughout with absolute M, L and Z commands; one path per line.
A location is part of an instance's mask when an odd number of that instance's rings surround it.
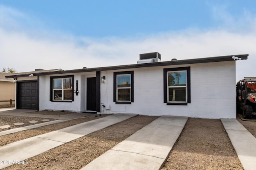
M 219 119 L 188 119 L 162 170 L 188 169 L 243 169 Z

